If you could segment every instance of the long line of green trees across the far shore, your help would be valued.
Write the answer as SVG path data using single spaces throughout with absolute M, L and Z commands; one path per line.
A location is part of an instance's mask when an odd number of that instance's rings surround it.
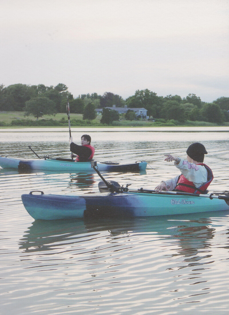
M 83 114 L 83 119 L 93 120 L 97 113 L 95 108 L 144 107 L 150 119 L 166 122 L 174 120 L 177 123 L 191 121 L 205 121 L 222 124 L 229 122 L 229 97 L 220 97 L 211 103 L 204 102 L 195 94 L 188 94 L 185 98 L 179 95 L 158 96 L 149 89 L 137 90 L 135 94 L 124 100 L 120 95 L 105 92 L 82 94 L 74 98 L 68 87 L 59 83 L 56 86 L 44 84 L 26 85 L 13 84 L 7 87 L 0 85 L 0 111 L 24 111 L 26 116 L 42 117 L 66 111 L 67 97 L 70 112 Z M 133 112 L 128 111 L 126 119 L 133 119 Z M 118 120 L 116 111 L 104 109 L 101 123 L 110 124 Z

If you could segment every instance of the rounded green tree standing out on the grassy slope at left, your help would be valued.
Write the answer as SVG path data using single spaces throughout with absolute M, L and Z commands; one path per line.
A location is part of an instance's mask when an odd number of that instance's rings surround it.
M 49 100 L 47 97 L 35 97 L 31 100 L 26 101 L 24 107 L 25 116 L 33 115 L 38 118 L 43 115 L 55 115 L 56 106 L 55 103 Z

